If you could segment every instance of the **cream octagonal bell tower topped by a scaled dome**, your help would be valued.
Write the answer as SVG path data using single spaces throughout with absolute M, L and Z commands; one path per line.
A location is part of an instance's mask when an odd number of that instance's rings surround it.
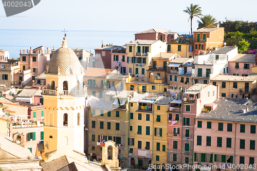
M 45 162 L 61 156 L 85 161 L 83 69 L 78 56 L 67 47 L 65 37 L 46 67 L 44 126 Z

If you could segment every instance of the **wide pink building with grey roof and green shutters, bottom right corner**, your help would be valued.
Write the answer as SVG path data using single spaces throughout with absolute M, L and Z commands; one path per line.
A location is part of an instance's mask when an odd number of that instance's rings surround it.
M 194 165 L 234 170 L 240 164 L 244 170 L 256 170 L 256 105 L 233 98 L 219 98 L 212 105 L 212 111 L 195 120 Z

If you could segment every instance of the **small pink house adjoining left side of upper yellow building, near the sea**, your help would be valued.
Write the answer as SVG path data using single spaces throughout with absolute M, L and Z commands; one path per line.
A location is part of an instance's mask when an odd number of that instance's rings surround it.
M 117 51 L 117 50 L 112 50 Z M 122 74 L 127 74 L 127 54 L 126 53 L 117 53 L 117 52 L 111 52 L 113 58 L 112 58 L 112 68 L 116 69 Z

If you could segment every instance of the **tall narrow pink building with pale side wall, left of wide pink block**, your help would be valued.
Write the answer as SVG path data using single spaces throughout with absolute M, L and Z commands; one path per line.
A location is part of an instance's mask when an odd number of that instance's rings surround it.
M 193 164 L 195 117 L 205 104 L 216 100 L 217 90 L 210 84 L 195 84 L 187 89 L 180 105 L 179 100 L 169 104 L 168 164 Z

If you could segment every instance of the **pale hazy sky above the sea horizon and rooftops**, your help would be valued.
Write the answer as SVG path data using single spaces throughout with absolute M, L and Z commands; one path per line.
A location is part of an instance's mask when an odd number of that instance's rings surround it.
M 34 8 L 11 17 L 6 17 L 4 7 L 0 5 L 0 28 L 110 31 L 163 28 L 189 32 L 189 15 L 183 10 L 190 3 L 199 4 L 203 14 L 211 14 L 217 21 L 225 21 L 225 17 L 257 21 L 256 0 L 41 0 Z M 197 20 L 193 19 L 193 30 L 197 29 Z

